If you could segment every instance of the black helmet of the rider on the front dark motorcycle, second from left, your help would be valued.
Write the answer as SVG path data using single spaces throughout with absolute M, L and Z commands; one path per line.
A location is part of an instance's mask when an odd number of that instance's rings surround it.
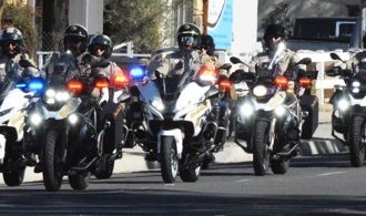
M 88 45 L 88 30 L 80 25 L 80 24 L 71 24 L 69 25 L 63 33 L 63 45 L 64 49 L 68 50 L 69 43 L 72 41 L 81 41 L 82 44 L 80 47 L 80 52 L 85 52 L 87 51 L 87 45 Z

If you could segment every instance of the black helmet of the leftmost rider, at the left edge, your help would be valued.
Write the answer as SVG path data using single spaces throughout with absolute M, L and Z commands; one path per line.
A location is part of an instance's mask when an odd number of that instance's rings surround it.
M 8 43 L 14 43 L 17 47 L 14 50 L 10 51 Z M 0 35 L 1 52 L 9 58 L 13 58 L 22 51 L 23 48 L 23 37 L 19 29 L 9 27 L 1 31 Z

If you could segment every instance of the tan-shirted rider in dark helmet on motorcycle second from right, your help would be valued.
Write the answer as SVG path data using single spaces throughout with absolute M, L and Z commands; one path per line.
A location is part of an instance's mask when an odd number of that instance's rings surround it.
M 250 72 L 255 72 L 256 70 L 266 69 L 274 58 L 279 43 L 284 43 L 286 38 L 285 28 L 281 24 L 268 24 L 264 32 L 264 47 L 265 50 L 257 55 L 255 55 L 250 63 Z M 301 59 L 299 56 L 288 50 L 284 49 L 282 53 L 279 53 L 278 58 L 278 70 L 279 74 L 285 75 L 292 83 L 297 79 L 297 73 L 302 72 L 304 68 L 302 65 L 295 65 Z M 289 84 L 291 85 L 291 84 Z M 294 91 L 294 84 L 289 86 L 289 91 L 287 91 L 287 104 L 295 104 L 292 106 L 294 113 L 297 116 L 301 116 L 301 107 L 298 99 Z M 299 120 L 296 121 L 295 125 L 292 127 L 293 130 L 287 132 L 287 137 L 291 141 L 291 145 L 298 145 L 301 138 L 301 130 L 299 130 Z M 299 147 L 297 147 L 297 154 L 299 152 Z

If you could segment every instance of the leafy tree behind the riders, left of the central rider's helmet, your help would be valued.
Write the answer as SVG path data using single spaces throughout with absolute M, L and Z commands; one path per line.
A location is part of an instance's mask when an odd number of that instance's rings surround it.
M 166 19 L 166 11 L 172 11 L 169 2 L 170 0 L 106 0 L 104 33 L 115 44 L 132 41 L 134 52 L 149 53 L 165 40 L 163 28 L 171 24 Z

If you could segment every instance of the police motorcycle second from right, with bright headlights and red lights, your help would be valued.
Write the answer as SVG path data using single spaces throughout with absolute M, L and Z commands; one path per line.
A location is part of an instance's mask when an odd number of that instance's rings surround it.
M 250 92 L 237 100 L 234 110 L 234 141 L 245 152 L 253 154 L 255 175 L 263 176 L 271 166 L 273 173 L 285 174 L 289 160 L 297 155 L 297 143 L 291 143 L 291 136 L 297 124 L 304 122 L 306 112 L 302 112 L 299 103 L 288 95 L 288 79 L 278 72 L 278 56 L 284 47 L 279 47 L 265 69 L 255 73 L 242 70 L 231 75 L 233 82 L 245 80 Z M 243 63 L 231 58 L 232 63 Z M 305 58 L 297 64 L 308 64 Z M 244 64 L 244 63 L 243 63 Z M 298 80 L 298 83 L 308 81 Z M 245 142 L 243 142 L 245 141 Z

